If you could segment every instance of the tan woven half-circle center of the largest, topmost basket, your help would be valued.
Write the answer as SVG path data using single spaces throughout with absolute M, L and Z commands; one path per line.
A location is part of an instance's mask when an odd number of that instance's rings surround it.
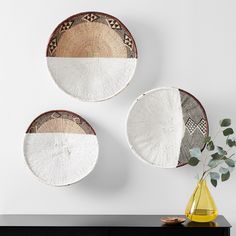
M 55 56 L 127 58 L 127 49 L 121 37 L 109 26 L 86 22 L 62 34 Z

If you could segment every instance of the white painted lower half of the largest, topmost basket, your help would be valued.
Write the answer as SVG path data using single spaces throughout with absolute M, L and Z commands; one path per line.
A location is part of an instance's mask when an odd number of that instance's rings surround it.
M 48 57 L 56 84 L 82 101 L 102 101 L 121 92 L 135 72 L 135 58 Z

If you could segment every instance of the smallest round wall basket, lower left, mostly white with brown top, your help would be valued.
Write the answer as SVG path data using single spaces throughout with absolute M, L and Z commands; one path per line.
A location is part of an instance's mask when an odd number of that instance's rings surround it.
M 70 111 L 38 116 L 26 131 L 24 155 L 28 167 L 49 185 L 75 183 L 94 168 L 98 141 L 93 128 Z

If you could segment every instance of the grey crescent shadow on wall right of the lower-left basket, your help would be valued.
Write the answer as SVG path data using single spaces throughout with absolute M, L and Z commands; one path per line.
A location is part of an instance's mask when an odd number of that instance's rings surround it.
M 99 142 L 99 157 L 94 170 L 78 184 L 78 189 L 114 194 L 122 189 L 129 179 L 129 157 L 126 147 L 106 127 L 94 125 Z

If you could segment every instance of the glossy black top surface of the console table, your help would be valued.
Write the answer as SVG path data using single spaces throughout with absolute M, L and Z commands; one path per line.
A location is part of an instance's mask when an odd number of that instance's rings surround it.
M 167 215 L 0 215 L 4 226 L 54 226 L 54 227 L 173 227 L 166 226 L 161 217 Z M 170 216 L 170 215 L 168 215 Z M 183 215 L 178 215 L 184 217 Z M 214 222 L 196 223 L 186 220 L 174 227 L 231 227 L 224 216 Z

